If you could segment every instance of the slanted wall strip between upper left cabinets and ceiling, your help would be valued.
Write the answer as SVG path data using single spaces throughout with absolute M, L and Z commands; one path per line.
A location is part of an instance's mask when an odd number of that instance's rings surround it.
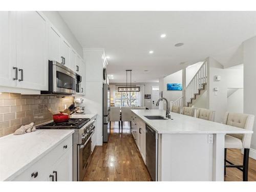
M 82 46 L 75 38 L 67 24 L 64 22 L 58 11 L 43 11 L 50 22 L 58 29 L 58 31 L 69 41 L 71 46 L 83 58 Z

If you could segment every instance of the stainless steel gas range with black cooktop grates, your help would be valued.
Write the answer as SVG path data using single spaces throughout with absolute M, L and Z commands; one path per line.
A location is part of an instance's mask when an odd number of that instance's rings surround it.
M 90 164 L 94 121 L 94 119 L 88 118 L 70 118 L 67 122 L 50 122 L 37 127 L 37 129 L 75 129 L 73 134 L 73 181 L 82 181 Z

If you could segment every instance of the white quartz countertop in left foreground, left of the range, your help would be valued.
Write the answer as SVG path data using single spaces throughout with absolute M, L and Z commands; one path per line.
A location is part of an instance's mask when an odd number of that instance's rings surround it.
M 14 178 L 43 157 L 74 130 L 37 130 L 0 138 L 0 181 Z

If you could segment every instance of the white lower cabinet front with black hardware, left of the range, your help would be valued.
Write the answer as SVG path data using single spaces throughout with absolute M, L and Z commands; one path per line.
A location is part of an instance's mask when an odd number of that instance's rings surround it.
M 72 135 L 12 181 L 72 181 Z

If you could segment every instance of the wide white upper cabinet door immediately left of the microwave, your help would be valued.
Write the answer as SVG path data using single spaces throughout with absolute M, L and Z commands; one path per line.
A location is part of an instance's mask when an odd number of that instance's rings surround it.
M 48 22 L 37 11 L 17 12 L 18 88 L 48 90 Z

